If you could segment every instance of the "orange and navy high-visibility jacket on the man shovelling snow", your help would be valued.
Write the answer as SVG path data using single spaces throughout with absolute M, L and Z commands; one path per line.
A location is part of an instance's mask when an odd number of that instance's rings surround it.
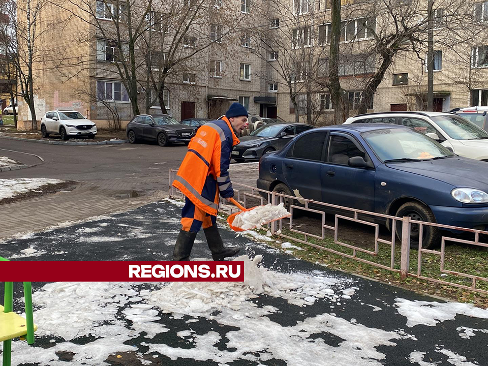
M 173 186 L 207 214 L 217 215 L 219 193 L 223 198 L 234 196 L 227 170 L 238 143 L 227 117 L 203 125 L 188 144 Z

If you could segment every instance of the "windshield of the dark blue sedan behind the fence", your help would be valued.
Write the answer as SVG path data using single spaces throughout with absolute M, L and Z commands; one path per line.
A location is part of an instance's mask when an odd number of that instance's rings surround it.
M 361 136 L 383 162 L 430 160 L 454 156 L 438 142 L 411 129 L 374 130 L 363 132 Z

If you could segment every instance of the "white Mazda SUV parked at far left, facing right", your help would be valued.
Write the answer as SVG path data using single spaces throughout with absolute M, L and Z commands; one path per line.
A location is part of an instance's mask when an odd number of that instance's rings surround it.
M 49 111 L 41 118 L 41 135 L 59 135 L 63 140 L 70 137 L 86 136 L 89 139 L 95 138 L 97 126 L 86 119 L 80 112 L 74 110 Z

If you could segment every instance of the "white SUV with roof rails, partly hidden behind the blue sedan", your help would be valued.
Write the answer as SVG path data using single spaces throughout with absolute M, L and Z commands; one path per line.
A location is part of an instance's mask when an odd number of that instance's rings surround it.
M 488 132 L 469 120 L 442 112 L 383 112 L 349 117 L 344 124 L 403 125 L 423 132 L 457 155 L 488 161 Z

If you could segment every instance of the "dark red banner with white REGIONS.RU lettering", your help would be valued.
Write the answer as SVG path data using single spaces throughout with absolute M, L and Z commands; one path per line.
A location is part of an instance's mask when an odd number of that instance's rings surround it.
M 243 261 L 1 261 L 0 281 L 243 282 Z

